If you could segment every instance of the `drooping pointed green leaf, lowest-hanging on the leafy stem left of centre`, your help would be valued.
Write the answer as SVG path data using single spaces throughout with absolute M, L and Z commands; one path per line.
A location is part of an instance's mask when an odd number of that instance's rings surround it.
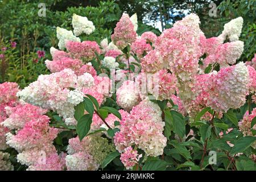
M 92 116 L 90 114 L 83 115 L 77 122 L 76 132 L 79 139 L 82 140 L 89 132 L 90 125 L 92 124 Z

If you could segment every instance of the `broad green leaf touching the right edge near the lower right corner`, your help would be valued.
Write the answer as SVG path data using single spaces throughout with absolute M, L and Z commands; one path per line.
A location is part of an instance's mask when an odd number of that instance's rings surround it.
M 255 140 L 256 140 L 256 137 L 251 137 L 251 136 L 241 137 L 234 143 L 234 147 L 232 148 L 230 154 L 234 155 L 234 154 L 237 154 L 238 152 L 245 151 L 248 147 L 251 146 L 251 143 L 255 142 Z

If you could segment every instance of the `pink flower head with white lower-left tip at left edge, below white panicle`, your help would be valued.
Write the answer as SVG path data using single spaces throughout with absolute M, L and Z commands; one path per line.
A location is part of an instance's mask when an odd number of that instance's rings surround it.
M 9 118 L 3 121 L 1 125 L 8 127 L 10 130 L 22 129 L 25 123 L 37 119 L 47 112 L 45 109 L 30 104 L 6 107 L 6 111 Z

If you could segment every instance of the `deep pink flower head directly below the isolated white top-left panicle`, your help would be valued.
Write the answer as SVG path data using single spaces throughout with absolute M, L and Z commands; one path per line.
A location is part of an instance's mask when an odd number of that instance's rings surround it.
M 81 59 L 85 62 L 88 62 L 96 57 L 95 52 L 98 54 L 101 53 L 101 49 L 95 41 L 88 40 L 81 43 L 68 41 L 65 45 L 73 58 Z

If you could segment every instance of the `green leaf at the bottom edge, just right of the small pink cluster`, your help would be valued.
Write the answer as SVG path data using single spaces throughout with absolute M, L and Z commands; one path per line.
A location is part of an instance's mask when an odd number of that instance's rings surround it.
M 164 171 L 168 163 L 161 159 L 147 160 L 142 171 Z

